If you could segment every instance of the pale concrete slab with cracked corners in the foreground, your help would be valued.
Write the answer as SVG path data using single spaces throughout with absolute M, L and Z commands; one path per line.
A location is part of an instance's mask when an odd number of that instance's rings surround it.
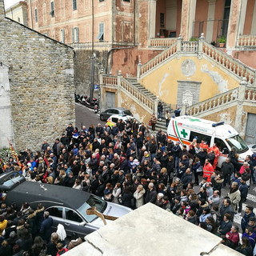
M 214 234 L 150 203 L 87 235 L 85 239 L 86 242 L 65 256 L 199 256 L 202 252 L 210 252 L 208 255 L 211 256 L 242 255 L 219 245 L 222 239 Z

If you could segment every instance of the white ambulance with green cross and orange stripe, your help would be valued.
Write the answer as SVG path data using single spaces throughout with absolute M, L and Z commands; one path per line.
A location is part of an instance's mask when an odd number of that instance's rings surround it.
M 222 152 L 218 158 L 218 167 L 222 166 L 222 162 L 233 147 L 239 154 L 239 162 L 244 162 L 246 155 L 253 154 L 238 132 L 224 122 L 212 122 L 187 115 L 173 117 L 170 119 L 167 134 L 172 141 L 186 146 L 189 146 L 194 138 L 197 138 L 198 143 L 205 141 L 208 146 L 215 143 Z

